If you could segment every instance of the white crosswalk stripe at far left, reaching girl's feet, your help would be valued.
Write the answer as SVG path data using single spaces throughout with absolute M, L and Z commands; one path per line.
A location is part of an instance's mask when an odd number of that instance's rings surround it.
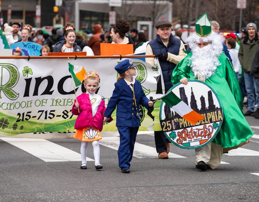
M 45 139 L 8 137 L 0 137 L 0 139 L 38 157 L 45 162 L 81 161 L 81 154 Z M 87 157 L 87 161 L 94 160 Z

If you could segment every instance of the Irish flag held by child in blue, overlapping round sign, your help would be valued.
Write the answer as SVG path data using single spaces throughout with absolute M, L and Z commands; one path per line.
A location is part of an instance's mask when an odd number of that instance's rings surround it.
M 203 120 L 204 116 L 194 111 L 191 107 L 186 105 L 179 97 L 177 97 L 172 91 L 166 93 L 160 98 L 171 107 L 176 113 L 191 124 L 196 124 L 199 120 Z

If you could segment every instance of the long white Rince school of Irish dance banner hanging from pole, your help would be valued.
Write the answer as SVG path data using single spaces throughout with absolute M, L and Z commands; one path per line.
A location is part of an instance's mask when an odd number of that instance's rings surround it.
M 164 87 L 157 66 L 151 66 L 139 59 L 131 59 L 138 64 L 136 79 L 142 84 L 148 99 L 161 97 Z M 72 65 L 84 66 L 86 71 L 100 74 L 98 94 L 105 98 L 107 105 L 118 75 L 114 67 L 118 58 L 70 59 Z M 30 132 L 69 132 L 75 131 L 76 116 L 71 108 L 75 100 L 71 74 L 67 59 L 0 59 L 0 132 L 16 135 Z M 76 88 L 77 96 L 84 90 Z M 140 109 L 142 126 L 140 130 L 153 130 L 160 127 L 157 101 L 152 111 Z M 104 131 L 115 131 L 114 121 L 104 123 Z

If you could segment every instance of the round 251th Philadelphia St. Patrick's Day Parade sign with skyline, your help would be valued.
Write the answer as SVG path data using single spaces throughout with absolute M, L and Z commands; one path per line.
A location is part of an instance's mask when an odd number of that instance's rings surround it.
M 178 83 L 170 91 L 161 98 L 159 113 L 167 139 L 184 149 L 197 149 L 210 143 L 223 120 L 216 91 L 200 80 L 188 80 L 187 85 Z

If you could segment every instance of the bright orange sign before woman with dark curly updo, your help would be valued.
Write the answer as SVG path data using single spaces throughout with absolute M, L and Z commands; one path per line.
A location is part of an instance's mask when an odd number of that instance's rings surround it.
M 133 44 L 100 43 L 101 55 L 133 54 Z

